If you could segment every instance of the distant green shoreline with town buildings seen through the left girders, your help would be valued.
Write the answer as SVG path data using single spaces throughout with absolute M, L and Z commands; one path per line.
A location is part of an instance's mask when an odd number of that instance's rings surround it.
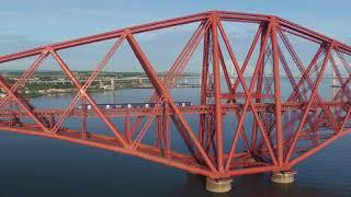
M 76 78 L 83 84 L 92 71 L 73 71 Z M 1 76 L 11 84 L 14 84 L 23 73 L 16 70 L 2 70 Z M 165 72 L 158 73 L 163 78 Z M 197 74 L 183 73 L 178 86 L 194 86 L 190 84 L 188 78 L 199 79 Z M 71 80 L 63 71 L 36 71 L 34 76 L 26 80 L 25 85 L 20 88 L 20 93 L 25 97 L 37 97 L 43 95 L 57 95 L 76 92 Z M 197 84 L 199 86 L 199 84 Z M 90 92 L 113 91 L 116 89 L 148 89 L 151 84 L 144 72 L 100 72 L 88 89 Z M 0 97 L 4 97 L 5 92 L 0 89 Z

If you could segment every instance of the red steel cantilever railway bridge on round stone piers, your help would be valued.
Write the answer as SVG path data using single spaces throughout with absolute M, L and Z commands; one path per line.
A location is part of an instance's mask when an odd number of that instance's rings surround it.
M 242 62 L 228 36 L 228 31 L 235 30 L 224 23 L 257 26 Z M 135 35 L 184 24 L 196 24 L 197 28 L 161 79 Z M 302 49 L 294 47 L 297 38 L 317 46 L 308 62 L 302 60 Z M 59 55 L 107 39 L 114 44 L 84 83 Z M 156 103 L 152 107 L 101 108 L 88 90 L 122 43 L 131 46 L 152 84 L 154 94 L 148 100 Z M 171 90 L 200 46 L 200 102 L 177 105 Z M 229 190 L 230 178 L 253 173 L 273 172 L 273 182 L 290 183 L 294 165 L 351 131 L 350 56 L 350 46 L 274 15 L 211 11 L 132 26 L 1 56 L 0 63 L 36 59 L 14 82 L 0 76 L 5 93 L 0 102 L 0 130 L 66 140 L 173 166 L 206 176 L 207 189 L 213 192 Z M 21 93 L 47 57 L 56 60 L 77 90 L 68 107 L 37 108 Z M 253 69 L 248 79 L 245 73 L 250 66 Z M 328 71 L 335 73 L 338 88 L 326 96 L 321 84 Z M 282 88 L 282 76 L 288 88 Z M 188 116 L 197 118 L 196 128 Z M 81 129 L 64 126 L 69 118 L 80 120 Z M 101 119 L 111 135 L 89 130 L 90 118 Z M 228 118 L 235 126 L 224 130 Z M 123 127 L 114 119 L 123 120 Z M 186 151 L 173 148 L 172 134 L 181 137 Z M 155 140 L 145 141 L 147 136 L 155 136 Z

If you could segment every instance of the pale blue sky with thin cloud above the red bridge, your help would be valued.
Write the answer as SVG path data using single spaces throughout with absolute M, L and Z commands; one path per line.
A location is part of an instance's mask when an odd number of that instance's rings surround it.
M 0 7 L 0 56 L 55 42 L 210 10 L 274 14 L 350 45 L 350 0 L 11 0 L 1 2 Z M 178 31 L 189 32 L 190 35 L 190 28 Z M 244 31 L 244 34 L 248 31 Z M 170 34 L 178 33 L 176 31 Z M 151 34 L 143 39 L 147 45 L 152 39 L 162 40 L 162 36 Z M 183 38 L 174 38 L 173 44 L 181 39 Z M 167 47 L 149 45 L 156 48 L 152 50 L 154 54 L 158 54 L 157 48 L 162 50 Z M 98 58 L 91 57 L 91 59 Z M 80 60 L 73 61 L 78 65 L 78 69 L 86 63 L 79 63 Z M 163 63 L 169 62 L 171 60 L 165 60 Z

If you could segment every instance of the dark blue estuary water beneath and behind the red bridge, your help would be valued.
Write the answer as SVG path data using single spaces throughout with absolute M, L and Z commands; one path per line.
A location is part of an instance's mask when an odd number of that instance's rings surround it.
M 150 90 L 133 89 L 94 93 L 93 97 L 99 103 L 114 103 L 138 102 L 149 95 Z M 172 95 L 196 103 L 199 90 L 179 89 Z M 71 96 L 43 96 L 32 102 L 37 107 L 60 107 L 67 106 Z M 75 121 L 66 124 L 76 127 Z M 99 130 L 101 125 L 88 126 Z M 227 124 L 225 129 L 229 127 Z M 294 184 L 272 184 L 269 174 L 238 176 L 227 194 L 206 192 L 204 179 L 196 175 L 66 141 L 0 132 L 0 196 L 7 197 L 351 196 L 351 136 L 298 164 Z

